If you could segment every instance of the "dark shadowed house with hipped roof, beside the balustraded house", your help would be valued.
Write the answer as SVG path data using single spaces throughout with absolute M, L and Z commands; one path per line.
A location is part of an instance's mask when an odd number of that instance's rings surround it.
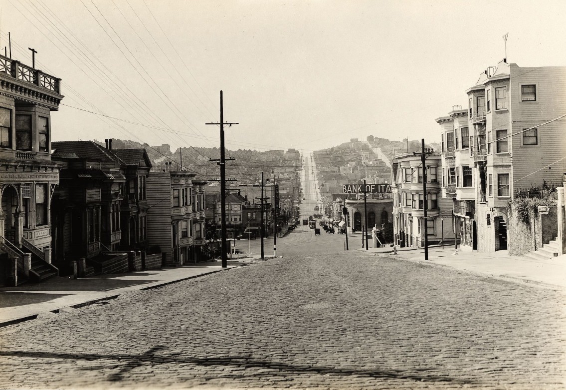
M 87 265 L 100 267 L 103 273 L 127 271 L 127 258 L 117 267 L 105 265 L 115 262 L 110 252 L 117 251 L 122 240 L 126 177 L 121 160 L 92 141 L 53 142 L 52 148 L 53 160 L 61 164 L 52 207 L 57 264 L 67 266 L 85 258 Z

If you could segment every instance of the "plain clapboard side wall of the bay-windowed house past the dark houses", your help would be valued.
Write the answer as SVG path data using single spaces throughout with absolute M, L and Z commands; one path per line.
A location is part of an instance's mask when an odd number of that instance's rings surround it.
M 171 255 L 171 176 L 169 172 L 149 173 L 146 184 L 147 238 L 150 245 L 159 245 L 161 252 Z

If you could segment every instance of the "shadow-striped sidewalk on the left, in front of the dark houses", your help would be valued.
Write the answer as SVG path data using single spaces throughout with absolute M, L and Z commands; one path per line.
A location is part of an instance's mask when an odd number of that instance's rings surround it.
M 56 277 L 35 285 L 1 287 L 0 327 L 35 319 L 42 313 L 58 312 L 66 307 L 79 308 L 101 300 L 115 299 L 127 291 L 155 289 L 170 283 L 237 268 L 257 261 L 258 258 L 259 256 L 229 259 L 227 268 L 222 268 L 220 260 L 217 260 L 177 268 L 78 279 Z

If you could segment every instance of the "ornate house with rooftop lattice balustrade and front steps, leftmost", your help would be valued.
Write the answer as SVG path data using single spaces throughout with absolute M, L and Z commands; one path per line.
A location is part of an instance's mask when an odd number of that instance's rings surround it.
M 51 264 L 51 117 L 63 99 L 61 79 L 0 56 L 0 284 L 57 275 Z

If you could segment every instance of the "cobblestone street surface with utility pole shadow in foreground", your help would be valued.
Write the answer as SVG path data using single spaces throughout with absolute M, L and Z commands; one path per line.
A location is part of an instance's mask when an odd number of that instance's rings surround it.
M 0 387 L 563 389 L 564 319 L 556 291 L 291 253 L 3 328 Z

